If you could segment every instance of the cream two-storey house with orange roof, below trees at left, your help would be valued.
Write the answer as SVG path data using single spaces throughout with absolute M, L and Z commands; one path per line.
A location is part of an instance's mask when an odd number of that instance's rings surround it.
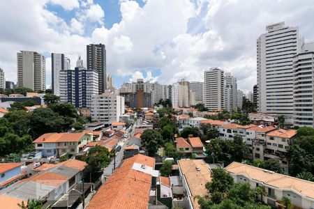
M 36 151 L 41 151 L 43 157 L 60 157 L 68 153 L 75 155 L 93 141 L 93 135 L 86 132 L 47 133 L 33 141 Z

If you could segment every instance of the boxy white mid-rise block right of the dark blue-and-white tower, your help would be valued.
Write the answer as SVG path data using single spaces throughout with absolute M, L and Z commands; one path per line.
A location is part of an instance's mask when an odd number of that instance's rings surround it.
M 110 91 L 91 98 L 91 120 L 111 125 L 124 114 L 124 97 Z

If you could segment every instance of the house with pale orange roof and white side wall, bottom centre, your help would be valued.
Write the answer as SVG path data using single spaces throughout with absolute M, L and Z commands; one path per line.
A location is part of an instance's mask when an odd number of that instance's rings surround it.
M 205 185 L 211 181 L 211 169 L 204 160 L 178 160 L 178 165 L 184 194 L 181 199 L 173 200 L 174 206 L 198 209 L 200 206 L 195 196 L 208 194 Z M 173 195 L 176 194 L 175 192 L 180 192 L 179 187 L 176 190 L 172 189 Z

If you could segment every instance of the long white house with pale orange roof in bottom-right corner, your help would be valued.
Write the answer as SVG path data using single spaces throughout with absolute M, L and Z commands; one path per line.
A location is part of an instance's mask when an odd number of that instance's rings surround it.
M 314 208 L 314 183 L 286 176 L 274 171 L 232 162 L 225 170 L 234 178 L 234 183 L 249 183 L 251 189 L 264 186 L 267 195 L 262 201 L 274 208 L 284 208 L 283 196 L 292 201 L 293 208 Z

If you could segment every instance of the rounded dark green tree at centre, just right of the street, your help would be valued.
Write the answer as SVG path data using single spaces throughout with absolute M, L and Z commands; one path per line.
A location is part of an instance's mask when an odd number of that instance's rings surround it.
M 154 156 L 158 148 L 163 146 L 163 137 L 156 130 L 147 129 L 141 135 L 144 146 L 149 152 L 149 156 Z

